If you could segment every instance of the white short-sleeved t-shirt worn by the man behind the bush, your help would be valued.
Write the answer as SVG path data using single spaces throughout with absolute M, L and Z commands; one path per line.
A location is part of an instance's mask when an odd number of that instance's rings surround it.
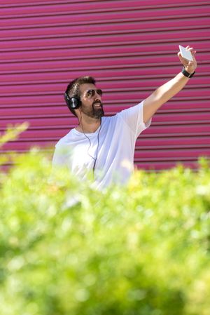
M 87 171 L 93 170 L 97 156 L 95 187 L 104 189 L 113 182 L 125 184 L 134 170 L 137 137 L 151 124 L 151 120 L 144 123 L 143 105 L 144 101 L 115 116 L 102 117 L 102 125 L 94 133 L 84 135 L 73 128 L 57 142 L 53 166 L 66 165 L 72 173 L 85 179 Z

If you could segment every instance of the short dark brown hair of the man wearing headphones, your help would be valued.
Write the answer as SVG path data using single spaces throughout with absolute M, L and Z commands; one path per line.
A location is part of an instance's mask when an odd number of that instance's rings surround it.
M 66 88 L 66 94 L 68 94 L 70 98 L 80 98 L 80 86 L 85 83 L 95 84 L 95 82 L 96 81 L 92 76 L 80 76 L 69 83 Z M 76 116 L 75 110 L 71 108 L 69 109 L 71 110 L 71 113 Z

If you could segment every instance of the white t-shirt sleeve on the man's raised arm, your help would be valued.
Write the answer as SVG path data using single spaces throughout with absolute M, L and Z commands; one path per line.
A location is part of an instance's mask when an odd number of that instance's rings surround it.
M 151 119 L 144 123 L 143 107 L 144 101 L 142 101 L 138 105 L 135 105 L 128 109 L 124 109 L 118 114 L 134 132 L 136 138 L 144 129 L 148 128 L 151 125 Z

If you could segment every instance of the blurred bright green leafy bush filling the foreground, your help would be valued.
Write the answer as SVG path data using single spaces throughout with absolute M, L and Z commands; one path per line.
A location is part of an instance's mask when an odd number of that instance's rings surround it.
M 0 177 L 3 315 L 209 315 L 210 171 L 105 192 L 36 149 Z

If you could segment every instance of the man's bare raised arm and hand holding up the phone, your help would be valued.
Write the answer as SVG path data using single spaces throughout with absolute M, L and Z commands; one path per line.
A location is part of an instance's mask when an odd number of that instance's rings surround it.
M 187 46 L 188 51 L 193 55 L 193 61 L 188 61 L 182 58 L 181 53 L 178 53 L 179 59 L 183 64 L 184 69 L 188 74 L 193 74 L 197 67 L 197 61 L 195 59 L 196 51 L 194 48 Z M 186 86 L 190 78 L 185 76 L 182 72 L 177 74 L 174 79 L 157 88 L 146 100 L 144 100 L 144 123 L 146 123 L 155 112 L 168 100 L 170 100 L 176 93 Z

